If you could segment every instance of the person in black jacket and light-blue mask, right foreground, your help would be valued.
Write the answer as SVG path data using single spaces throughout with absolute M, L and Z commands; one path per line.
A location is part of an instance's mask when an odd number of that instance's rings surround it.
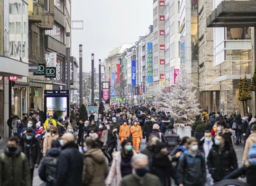
M 210 149 L 207 158 L 207 165 L 214 183 L 220 181 L 222 178 L 237 169 L 237 155 L 235 150 L 230 147 L 228 141 L 223 134 L 218 134 L 214 138 L 214 145 Z

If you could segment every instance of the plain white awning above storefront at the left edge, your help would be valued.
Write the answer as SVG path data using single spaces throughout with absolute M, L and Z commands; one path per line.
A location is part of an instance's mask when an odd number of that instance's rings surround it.
M 0 56 L 0 76 L 28 76 L 28 63 Z

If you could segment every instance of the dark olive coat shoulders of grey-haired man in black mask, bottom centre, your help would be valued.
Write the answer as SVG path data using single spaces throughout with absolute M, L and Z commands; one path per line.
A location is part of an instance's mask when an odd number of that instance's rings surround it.
M 119 186 L 161 186 L 161 182 L 159 178 L 153 174 L 145 174 L 143 177 L 143 183 L 140 183 L 139 178 L 137 178 L 134 174 L 129 174 L 123 178 L 122 182 Z

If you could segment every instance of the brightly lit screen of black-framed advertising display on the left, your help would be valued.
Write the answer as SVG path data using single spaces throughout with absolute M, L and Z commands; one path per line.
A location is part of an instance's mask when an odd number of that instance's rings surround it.
M 53 116 L 54 119 L 63 118 L 67 116 L 68 112 L 68 98 L 66 96 L 51 97 L 46 96 L 46 118 Z

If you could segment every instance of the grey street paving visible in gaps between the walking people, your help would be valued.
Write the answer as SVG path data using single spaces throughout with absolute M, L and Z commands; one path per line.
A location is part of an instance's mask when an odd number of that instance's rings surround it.
M 6 147 L 6 142 L 7 142 L 7 139 L 3 139 L 2 141 L 0 141 L 0 154 L 3 153 L 3 149 L 4 147 Z M 143 148 L 145 148 L 145 140 L 143 140 L 143 143 L 141 143 L 141 149 Z M 120 149 L 119 143 L 118 143 L 118 149 Z M 244 152 L 244 145 L 242 144 L 239 146 L 235 146 L 235 152 L 237 153 L 237 160 L 238 160 L 239 166 L 241 166 L 243 152 Z M 245 180 L 245 179 L 241 179 L 241 180 Z M 115 186 L 114 183 L 115 182 L 113 181 L 112 186 Z M 35 169 L 35 172 L 34 172 L 33 186 L 45 186 L 45 183 L 43 183 L 38 176 L 38 169 Z

